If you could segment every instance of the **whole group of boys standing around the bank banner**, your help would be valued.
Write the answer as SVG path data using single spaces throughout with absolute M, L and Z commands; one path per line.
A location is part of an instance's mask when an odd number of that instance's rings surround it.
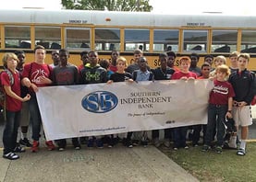
M 210 93 L 208 107 L 207 125 L 195 125 L 189 127 L 193 130 L 192 144 L 198 146 L 203 128 L 203 146 L 202 151 L 207 152 L 212 146 L 214 136 L 216 135 L 216 146 L 214 150 L 221 154 L 225 142 L 225 122 L 226 118 L 234 118 L 236 127 L 241 126 L 241 141 L 238 148 L 238 155 L 245 155 L 246 142 L 248 137 L 248 126 L 252 124 L 250 118 L 250 102 L 255 94 L 254 74 L 247 70 L 250 55 L 246 53 L 238 54 L 234 52 L 230 55 L 232 61 L 231 69 L 226 66 L 226 58 L 217 56 L 213 61 L 212 55 L 205 56 L 205 63 L 201 69 L 197 67 L 199 56 L 195 53 L 190 56 L 179 58 L 179 68 L 175 64 L 176 53 L 168 51 L 159 54 L 160 66 L 151 69 L 148 66 L 146 57 L 140 50 L 134 51 L 134 63 L 128 65 L 127 60 L 120 56 L 118 51 L 111 52 L 111 62 L 108 60 L 99 60 L 96 51 L 82 51 L 80 53 L 81 65 L 77 67 L 68 62 L 69 52 L 65 49 L 52 51 L 53 64 L 44 63 L 46 51 L 43 46 L 36 46 L 34 49 L 35 60 L 33 63 L 24 63 L 25 53 L 18 51 L 15 53 L 6 53 L 3 57 L 3 63 L 7 70 L 14 77 L 14 85 L 11 85 L 9 75 L 6 72 L 1 73 L 1 84 L 6 91 L 6 126 L 3 134 L 4 154 L 3 157 L 10 160 L 18 159 L 16 153 L 24 152 L 24 148 L 18 145 L 18 127 L 21 125 L 21 139 L 19 144 L 30 147 L 31 152 L 36 153 L 39 150 L 39 139 L 41 137 L 42 119 L 38 108 L 35 93 L 40 86 L 49 85 L 88 85 L 113 82 L 140 82 L 151 80 L 194 80 L 194 79 L 212 79 L 213 90 Z M 235 57 L 235 59 L 233 59 Z M 234 61 L 235 60 L 235 61 Z M 213 70 L 212 64 L 215 64 Z M 230 74 L 232 70 L 233 74 Z M 230 74 L 230 75 L 229 75 Z M 22 117 L 23 119 L 20 119 Z M 26 120 L 25 123 L 23 120 Z M 27 131 L 31 123 L 32 144 L 27 137 Z M 142 133 L 142 134 L 141 134 Z M 123 140 L 124 144 L 132 147 L 135 142 L 132 138 L 138 139 L 141 143 L 147 145 L 148 131 L 128 132 Z M 171 140 L 173 148 L 188 149 L 186 138 L 188 127 L 177 127 L 174 129 L 165 129 L 164 145 L 170 147 Z M 109 147 L 116 144 L 116 135 L 110 136 L 91 136 L 88 138 L 87 145 L 98 148 L 104 147 L 107 142 Z M 105 140 L 106 139 L 106 140 Z M 232 133 L 228 144 L 236 146 L 236 132 Z M 74 148 L 81 148 L 80 142 L 84 142 L 84 137 L 72 138 Z M 138 142 L 138 141 L 137 141 Z M 152 142 L 159 147 L 159 130 L 152 131 Z M 67 146 L 66 139 L 55 141 L 58 150 L 63 151 Z M 54 150 L 53 141 L 46 141 L 48 150 Z M 137 143 L 135 143 L 137 144 Z

